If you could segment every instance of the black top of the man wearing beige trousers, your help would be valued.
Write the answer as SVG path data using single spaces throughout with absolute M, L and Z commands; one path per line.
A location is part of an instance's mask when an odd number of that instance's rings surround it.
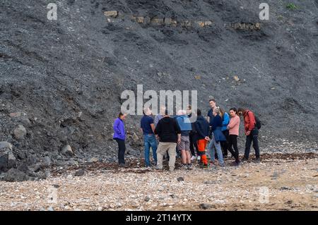
M 164 117 L 160 119 L 157 126 L 155 127 L 155 134 L 159 135 L 160 142 L 177 143 L 178 133 L 181 133 L 181 130 L 174 118 Z

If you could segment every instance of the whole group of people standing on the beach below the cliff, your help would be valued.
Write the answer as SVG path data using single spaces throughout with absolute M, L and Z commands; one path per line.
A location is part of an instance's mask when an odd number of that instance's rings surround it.
M 244 118 L 245 126 L 245 154 L 242 161 L 249 159 L 249 151 L 253 142 L 255 161 L 259 162 L 259 128 L 257 118 L 248 109 L 232 107 L 228 112 L 216 105 L 215 99 L 210 99 L 211 109 L 204 118 L 201 110 L 192 111 L 191 105 L 185 110 L 177 111 L 176 116 L 170 116 L 164 106 L 160 107 L 160 114 L 153 118 L 151 109 L 143 109 L 141 131 L 143 132 L 145 166 L 163 169 L 163 159 L 169 162 L 169 170 L 174 171 L 177 154 L 181 156 L 182 168 L 192 169 L 192 162 L 197 159 L 201 166 L 214 164 L 224 166 L 224 159 L 228 152 L 232 154 L 238 166 L 241 162 L 237 147 L 239 136 L 240 116 Z M 196 121 L 190 118 L 196 114 Z M 120 113 L 114 121 L 114 140 L 117 141 L 119 151 L 119 166 L 126 167 L 124 152 L 126 132 L 124 119 L 126 114 Z M 208 154 L 206 155 L 206 146 Z M 150 159 L 150 150 L 153 152 L 153 162 Z

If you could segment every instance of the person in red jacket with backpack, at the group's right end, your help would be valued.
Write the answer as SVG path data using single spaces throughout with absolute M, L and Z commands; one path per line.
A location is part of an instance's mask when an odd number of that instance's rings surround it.
M 244 117 L 244 128 L 246 135 L 245 142 L 245 154 L 242 161 L 247 161 L 249 159 L 249 150 L 251 149 L 251 144 L 253 142 L 253 148 L 255 150 L 255 162 L 260 162 L 259 159 L 259 128 L 260 122 L 254 115 L 254 113 L 248 109 L 239 108 L 237 112 L 240 116 Z

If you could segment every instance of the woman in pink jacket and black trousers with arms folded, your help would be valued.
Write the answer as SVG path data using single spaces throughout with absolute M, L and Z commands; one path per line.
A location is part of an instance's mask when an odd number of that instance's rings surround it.
M 230 123 L 228 123 L 228 130 L 230 133 L 229 141 L 228 141 L 228 150 L 235 157 L 235 162 L 233 162 L 233 166 L 238 166 L 240 164 L 239 152 L 237 148 L 237 136 L 239 135 L 240 128 L 240 117 L 237 116 L 237 109 L 230 109 Z M 232 147 L 234 147 L 235 152 Z

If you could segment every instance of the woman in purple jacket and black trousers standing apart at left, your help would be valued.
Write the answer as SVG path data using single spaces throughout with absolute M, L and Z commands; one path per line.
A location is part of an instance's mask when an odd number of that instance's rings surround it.
M 119 167 L 126 167 L 124 154 L 126 150 L 125 146 L 125 138 L 126 138 L 126 131 L 124 126 L 124 119 L 126 118 L 126 114 L 119 113 L 118 118 L 114 121 L 114 136 L 113 139 L 118 143 L 118 162 Z

